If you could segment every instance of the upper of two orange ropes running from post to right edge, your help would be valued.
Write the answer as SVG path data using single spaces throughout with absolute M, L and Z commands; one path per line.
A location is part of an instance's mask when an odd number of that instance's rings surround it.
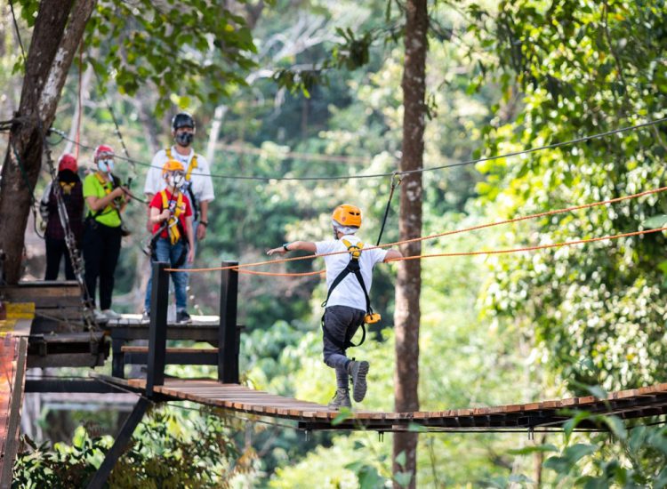
M 445 231 L 445 232 L 438 233 L 438 234 L 435 234 L 435 235 L 430 235 L 430 236 L 418 236 L 418 237 L 414 237 L 414 238 L 411 238 L 411 239 L 396 241 L 394 243 L 379 244 L 377 246 L 368 246 L 367 248 L 364 248 L 364 250 L 368 251 L 368 250 L 374 250 L 374 249 L 378 249 L 378 248 L 386 248 L 386 247 L 390 247 L 390 246 L 397 246 L 397 245 L 400 245 L 400 244 L 414 243 L 414 242 L 417 242 L 417 241 L 426 241 L 426 240 L 435 239 L 435 238 L 438 238 L 438 237 L 451 236 L 451 235 L 465 233 L 465 232 L 469 232 L 469 231 L 476 231 L 478 229 L 493 228 L 494 226 L 501 226 L 503 224 L 511 224 L 513 222 L 519 222 L 521 220 L 537 219 L 537 218 L 550 216 L 550 215 L 554 215 L 554 214 L 560 214 L 560 213 L 564 213 L 564 212 L 573 212 L 573 211 L 578 211 L 578 210 L 581 210 L 581 209 L 589 209 L 591 207 L 596 207 L 596 206 L 599 206 L 599 205 L 616 204 L 618 202 L 622 202 L 623 200 L 629 200 L 631 198 L 638 198 L 640 196 L 648 196 L 648 195 L 651 195 L 651 194 L 657 194 L 657 193 L 660 193 L 660 192 L 664 192 L 665 190 L 667 190 L 667 187 L 654 188 L 652 190 L 646 190 L 644 192 L 639 192 L 637 194 L 632 194 L 630 196 L 616 197 L 616 198 L 612 198 L 612 199 L 609 199 L 609 200 L 602 200 L 602 201 L 599 201 L 599 202 L 593 202 L 591 204 L 575 205 L 573 207 L 567 207 L 567 208 L 564 208 L 564 209 L 554 209 L 552 211 L 546 211 L 546 212 L 538 212 L 538 213 L 535 213 L 535 214 L 529 214 L 529 215 L 526 215 L 526 216 L 517 217 L 517 218 L 513 218 L 513 219 L 508 219 L 508 220 L 498 220 L 498 221 L 495 221 L 495 222 L 487 222 L 486 224 L 479 224 L 478 226 L 471 226 L 470 228 L 454 229 L 454 230 L 451 230 L 451 231 Z M 210 269 L 166 269 L 166 271 L 169 271 L 169 272 L 208 272 L 208 271 L 231 270 L 231 269 L 236 269 L 238 271 L 242 268 L 260 267 L 261 265 L 275 265 L 277 263 L 285 263 L 287 261 L 311 260 L 313 258 L 321 258 L 321 257 L 324 257 L 324 256 L 332 256 L 332 255 L 336 255 L 336 254 L 345 254 L 345 253 L 349 253 L 349 252 L 347 250 L 343 250 L 343 251 L 340 251 L 340 252 L 331 252 L 331 253 L 322 253 L 322 254 L 309 254 L 309 255 L 305 255 L 305 256 L 294 256 L 292 258 L 281 258 L 279 260 L 255 261 L 253 263 L 239 263 L 238 265 L 233 265 L 233 266 L 229 266 L 229 267 L 213 267 L 213 268 L 210 268 Z M 484 252 L 484 253 L 486 253 L 486 252 Z M 484 253 L 480 252 L 478 254 L 484 254 Z M 427 255 L 424 255 L 424 256 L 427 256 Z M 407 257 L 407 258 L 409 258 L 409 257 Z

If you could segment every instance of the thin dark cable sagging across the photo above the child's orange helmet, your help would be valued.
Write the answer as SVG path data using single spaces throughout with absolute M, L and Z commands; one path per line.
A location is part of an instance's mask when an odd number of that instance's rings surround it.
M 384 172 L 384 173 L 369 173 L 369 174 L 359 174 L 359 175 L 338 175 L 338 176 L 321 176 L 321 177 L 285 177 L 285 176 L 268 176 L 268 177 L 261 177 L 261 176 L 254 176 L 254 175 L 224 175 L 224 174 L 211 174 L 211 178 L 213 179 L 226 179 L 226 180 L 256 180 L 256 181 L 271 181 L 271 180 L 276 180 L 276 181 L 317 181 L 317 180 L 362 180 L 362 179 L 373 179 L 373 178 L 382 178 L 382 177 L 390 177 L 394 175 L 395 173 L 398 173 L 398 175 L 408 175 L 411 173 L 421 173 L 421 172 L 434 172 L 437 170 L 445 170 L 447 168 L 454 168 L 457 166 L 464 166 L 468 164 L 477 164 L 485 161 L 493 161 L 501 158 L 507 158 L 511 156 L 520 156 L 520 155 L 527 155 L 529 153 L 534 153 L 536 151 L 542 151 L 544 149 L 553 149 L 553 148 L 562 148 L 565 146 L 570 146 L 574 144 L 579 144 L 581 142 L 589 141 L 589 140 L 597 140 L 600 138 L 605 138 L 607 136 L 611 136 L 614 134 L 619 134 L 621 132 L 628 132 L 628 131 L 633 131 L 637 129 L 642 129 L 645 127 L 653 126 L 656 124 L 663 124 L 664 122 L 667 122 L 667 117 L 662 117 L 660 119 L 654 119 L 650 120 L 641 124 L 634 124 L 634 125 L 629 125 L 625 127 L 620 127 L 616 129 L 612 129 L 607 132 L 599 132 L 597 134 L 591 134 L 588 136 L 583 136 L 581 138 L 576 138 L 575 140 L 567 140 L 567 141 L 561 141 L 561 142 L 555 142 L 552 144 L 547 144 L 543 146 L 538 146 L 535 148 L 527 148 L 527 149 L 522 149 L 520 151 L 513 151 L 511 153 L 505 153 L 502 155 L 495 155 L 495 156 L 485 156 L 482 158 L 476 158 L 468 161 L 463 161 L 459 163 L 452 163 L 452 164 L 441 164 L 438 166 L 431 166 L 429 168 L 417 168 L 415 170 L 408 170 L 406 172 Z M 76 143 L 76 141 L 73 141 L 68 138 L 68 136 L 64 133 L 61 132 L 57 129 L 52 129 L 52 132 L 55 132 L 59 134 L 64 140 L 68 140 L 70 142 Z M 91 148 L 91 147 L 86 147 L 83 144 L 81 145 L 82 148 Z M 123 157 L 123 156 L 116 156 L 119 159 L 124 159 L 128 162 L 131 162 L 133 164 L 139 164 L 141 166 L 147 166 L 147 167 L 152 167 L 153 165 L 149 163 L 144 163 L 139 160 L 135 160 L 133 158 L 128 158 L 128 157 Z

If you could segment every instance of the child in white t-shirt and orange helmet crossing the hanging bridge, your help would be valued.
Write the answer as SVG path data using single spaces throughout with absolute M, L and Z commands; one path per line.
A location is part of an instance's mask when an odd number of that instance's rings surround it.
M 328 241 L 294 241 L 267 254 L 287 253 L 301 250 L 317 254 L 338 253 L 325 256 L 326 287 L 328 292 L 322 304 L 325 364 L 336 372 L 336 394 L 329 407 L 340 409 L 351 407 L 349 381 L 352 381 L 352 398 L 361 402 L 366 397 L 366 374 L 368 362 L 350 360 L 346 349 L 359 346 L 366 338 L 366 324 L 376 323 L 380 315 L 371 309 L 369 293 L 373 284 L 373 269 L 376 263 L 400 258 L 396 250 L 374 248 L 364 250 L 364 244 L 355 236 L 361 228 L 361 211 L 358 207 L 342 204 L 332 215 L 333 236 Z M 344 253 L 344 252 L 348 253 Z M 341 253 L 343 252 L 343 253 Z M 359 326 L 363 330 L 361 341 L 352 343 Z

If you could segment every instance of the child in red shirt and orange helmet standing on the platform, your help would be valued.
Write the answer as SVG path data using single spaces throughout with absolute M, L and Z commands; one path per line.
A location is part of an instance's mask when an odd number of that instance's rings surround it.
M 195 260 L 195 234 L 192 227 L 192 207 L 181 191 L 185 181 L 185 168 L 175 160 L 168 160 L 162 168 L 166 188 L 150 201 L 150 220 L 153 237 L 150 241 L 151 259 L 171 263 L 174 269 L 186 269 L 186 263 Z M 188 274 L 171 274 L 176 295 L 176 322 L 189 323 Z M 146 286 L 145 314 L 150 314 L 151 283 Z

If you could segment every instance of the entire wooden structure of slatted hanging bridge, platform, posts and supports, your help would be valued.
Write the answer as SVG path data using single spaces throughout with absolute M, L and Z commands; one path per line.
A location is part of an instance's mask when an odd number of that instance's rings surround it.
M 133 392 L 137 402 L 117 434 L 89 487 L 101 487 L 124 453 L 149 405 L 190 401 L 236 413 L 253 420 L 287 421 L 296 429 L 482 432 L 562 429 L 574 410 L 614 414 L 630 420 L 667 413 L 667 383 L 613 392 L 605 398 L 573 397 L 495 407 L 472 407 L 436 412 L 380 413 L 334 411 L 299 399 L 281 397 L 239 384 L 239 344 L 243 326 L 237 325 L 238 272 L 236 262 L 221 267 L 220 316 L 202 318 L 194 325 L 167 322 L 168 264 L 153 267 L 149 324 L 135 317 L 101 325 L 85 332 L 76 283 L 33 283 L 0 287 L 0 301 L 8 303 L 0 318 L 0 487 L 11 484 L 12 463 L 18 447 L 23 392 L 117 393 Z M 28 302 L 20 306 L 18 302 Z M 147 347 L 130 346 L 148 340 Z M 205 341 L 212 348 L 170 349 L 167 340 Z M 91 373 L 88 379 L 26 380 L 32 366 L 98 366 L 112 353 L 112 375 Z M 145 379 L 125 379 L 125 365 L 146 365 Z M 165 365 L 217 365 L 216 379 L 174 379 Z M 584 421 L 578 429 L 604 426 Z

